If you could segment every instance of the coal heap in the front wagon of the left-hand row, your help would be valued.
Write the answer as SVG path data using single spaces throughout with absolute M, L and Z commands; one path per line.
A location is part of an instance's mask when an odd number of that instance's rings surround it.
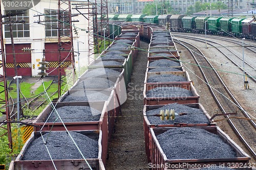
M 98 141 L 77 132 L 69 133 L 87 159 L 98 158 Z M 52 159 L 83 159 L 66 131 L 52 131 L 43 136 Z M 51 160 L 42 137 L 30 143 L 22 160 Z

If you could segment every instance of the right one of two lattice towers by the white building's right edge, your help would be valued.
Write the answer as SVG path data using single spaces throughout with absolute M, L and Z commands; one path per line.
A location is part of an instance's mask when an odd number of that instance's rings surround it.
M 100 35 L 103 35 L 103 29 L 105 29 L 105 35 L 110 36 L 109 34 L 109 12 L 108 12 L 108 0 L 101 0 L 100 4 L 100 22 L 99 29 Z

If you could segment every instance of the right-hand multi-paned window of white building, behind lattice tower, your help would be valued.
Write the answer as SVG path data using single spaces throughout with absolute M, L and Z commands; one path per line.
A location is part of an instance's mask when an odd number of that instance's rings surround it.
M 47 37 L 57 37 L 58 36 L 58 11 L 52 9 L 45 9 L 45 22 L 46 22 L 46 36 Z M 60 25 L 61 36 L 69 36 L 69 15 L 68 12 L 61 12 L 63 21 Z

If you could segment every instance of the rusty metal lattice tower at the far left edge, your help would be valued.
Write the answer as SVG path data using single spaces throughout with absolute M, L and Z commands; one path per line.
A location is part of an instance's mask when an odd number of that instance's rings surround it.
M 6 114 L 6 120 L 8 121 L 10 120 L 10 112 L 9 112 L 9 100 L 8 100 L 8 87 L 7 87 L 7 79 L 6 79 L 6 62 L 5 62 L 5 48 L 4 48 L 4 37 L 3 37 L 1 3 L 0 3 L 0 43 L 1 43 L 0 53 L 2 55 L 2 58 L 0 58 L 0 68 L 3 68 L 3 75 L 0 75 L 0 83 L 4 82 L 3 85 L 1 85 L 4 90 L 0 91 L 0 93 L 5 93 L 5 99 L 0 99 L 0 104 L 1 104 L 1 107 L 5 109 L 5 111 L 3 111 L 4 110 L 3 109 L 1 110 L 1 112 L 3 114 Z M 3 126 L 0 126 L 0 128 L 7 130 L 5 134 L 0 134 L 0 135 L 8 134 L 9 148 L 12 149 L 11 124 L 7 123 L 7 128 Z

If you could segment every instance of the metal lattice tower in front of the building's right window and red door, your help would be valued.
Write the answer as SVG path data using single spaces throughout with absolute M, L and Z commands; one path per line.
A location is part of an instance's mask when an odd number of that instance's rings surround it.
M 58 98 L 66 85 L 75 83 L 74 48 L 70 0 L 58 0 Z M 62 68 L 63 61 L 72 67 L 69 72 Z

